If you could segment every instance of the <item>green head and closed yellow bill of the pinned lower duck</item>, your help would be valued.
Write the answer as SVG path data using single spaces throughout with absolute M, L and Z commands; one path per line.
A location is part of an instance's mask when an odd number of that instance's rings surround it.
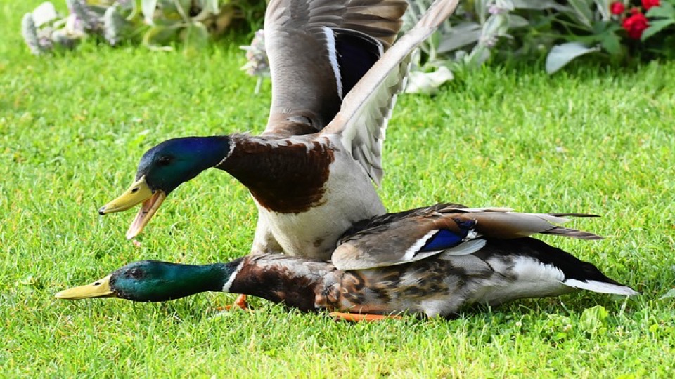
M 159 260 L 130 263 L 86 286 L 61 291 L 56 298 L 122 298 L 139 302 L 160 302 L 184 298 L 205 291 L 223 291 L 236 272 L 237 262 L 214 265 L 179 265 Z

